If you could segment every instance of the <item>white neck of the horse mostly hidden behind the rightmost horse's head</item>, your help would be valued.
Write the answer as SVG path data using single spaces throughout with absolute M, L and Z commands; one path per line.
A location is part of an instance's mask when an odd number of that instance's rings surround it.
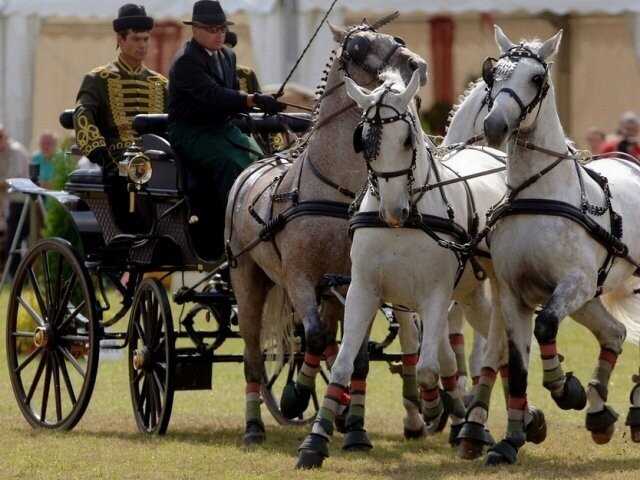
M 484 108 L 485 89 L 486 84 L 483 81 L 477 82 L 455 108 L 443 145 L 466 142 L 471 137 L 482 134 L 481 111 Z

